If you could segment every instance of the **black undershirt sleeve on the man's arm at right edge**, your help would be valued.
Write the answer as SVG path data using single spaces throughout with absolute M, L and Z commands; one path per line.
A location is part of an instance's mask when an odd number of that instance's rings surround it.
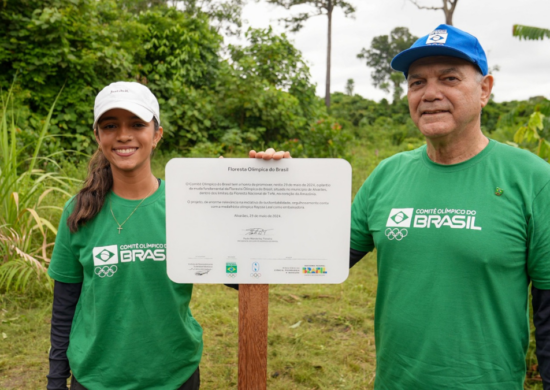
M 550 390 L 550 290 L 540 290 L 533 286 L 531 294 L 539 372 L 544 390 Z

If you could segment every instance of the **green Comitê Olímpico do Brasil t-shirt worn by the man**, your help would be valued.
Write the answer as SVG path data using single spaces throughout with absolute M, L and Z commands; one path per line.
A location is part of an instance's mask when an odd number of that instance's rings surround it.
M 377 249 L 377 390 L 520 390 L 528 284 L 550 289 L 550 164 L 495 141 L 456 165 L 426 146 L 375 169 L 351 247 Z

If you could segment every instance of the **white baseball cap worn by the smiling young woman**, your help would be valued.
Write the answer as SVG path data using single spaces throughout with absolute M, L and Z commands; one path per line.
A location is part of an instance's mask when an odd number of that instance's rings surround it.
M 93 128 L 96 128 L 103 114 L 114 108 L 130 111 L 145 122 L 157 118 L 160 124 L 159 102 L 143 84 L 118 81 L 103 88 L 95 98 Z

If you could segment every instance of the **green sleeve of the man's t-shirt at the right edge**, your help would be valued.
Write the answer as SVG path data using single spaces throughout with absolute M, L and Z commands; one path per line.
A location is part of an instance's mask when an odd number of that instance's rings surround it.
M 533 201 L 528 225 L 527 270 L 533 285 L 550 290 L 550 182 Z

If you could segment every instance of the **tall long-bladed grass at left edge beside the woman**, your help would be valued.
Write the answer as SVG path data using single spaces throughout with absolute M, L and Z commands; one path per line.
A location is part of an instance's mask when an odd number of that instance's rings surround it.
M 61 94 L 61 91 L 60 93 Z M 46 274 L 49 253 L 57 229 L 48 217 L 61 208 L 46 204 L 52 193 L 69 196 L 71 179 L 60 176 L 52 155 L 41 156 L 41 146 L 48 136 L 53 102 L 38 137 L 25 144 L 18 135 L 18 107 L 13 86 L 2 95 L 0 119 L 0 291 L 25 291 L 31 285 L 51 289 Z M 49 171 L 40 167 L 53 167 Z

